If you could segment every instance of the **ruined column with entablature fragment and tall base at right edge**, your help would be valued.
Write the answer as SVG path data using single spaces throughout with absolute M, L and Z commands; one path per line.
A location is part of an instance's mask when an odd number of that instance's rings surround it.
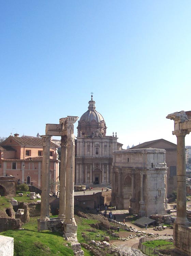
M 191 223 L 186 212 L 186 158 L 185 136 L 191 132 L 191 111 L 168 114 L 167 119 L 174 120 L 173 135 L 177 137 L 177 218 L 174 222 L 173 255 L 191 255 Z

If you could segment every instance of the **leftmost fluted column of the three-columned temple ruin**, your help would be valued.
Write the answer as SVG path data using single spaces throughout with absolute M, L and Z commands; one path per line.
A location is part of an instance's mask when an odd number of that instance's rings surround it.
M 50 136 L 42 135 L 42 194 L 40 220 L 49 220 L 49 164 L 50 164 Z

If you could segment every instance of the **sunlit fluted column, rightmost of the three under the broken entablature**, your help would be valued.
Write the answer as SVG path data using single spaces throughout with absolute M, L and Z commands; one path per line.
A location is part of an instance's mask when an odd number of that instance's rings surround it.
M 67 169 L 66 169 L 66 211 L 65 223 L 75 224 L 74 219 L 74 134 L 67 136 Z

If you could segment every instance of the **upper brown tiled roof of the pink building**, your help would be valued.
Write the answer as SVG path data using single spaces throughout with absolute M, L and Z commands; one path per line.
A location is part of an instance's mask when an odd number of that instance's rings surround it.
M 13 137 L 9 136 L 7 139 L 12 139 L 19 145 L 28 145 L 28 146 L 43 146 L 42 138 L 35 138 L 35 137 Z M 6 139 L 6 141 L 7 141 Z M 3 146 L 3 145 L 2 145 Z M 50 142 L 50 147 L 57 147 L 56 144 Z

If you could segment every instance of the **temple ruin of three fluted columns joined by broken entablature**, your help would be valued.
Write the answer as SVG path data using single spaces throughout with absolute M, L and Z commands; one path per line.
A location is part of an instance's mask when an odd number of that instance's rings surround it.
M 46 124 L 46 135 L 41 136 L 43 139 L 42 194 L 38 229 L 51 229 L 51 227 L 62 221 L 65 237 L 75 237 L 77 232 L 77 225 L 74 219 L 74 123 L 77 119 L 78 117 L 68 116 L 61 118 L 59 124 Z M 51 136 L 61 136 L 58 218 L 50 218 L 49 216 L 49 152 Z

